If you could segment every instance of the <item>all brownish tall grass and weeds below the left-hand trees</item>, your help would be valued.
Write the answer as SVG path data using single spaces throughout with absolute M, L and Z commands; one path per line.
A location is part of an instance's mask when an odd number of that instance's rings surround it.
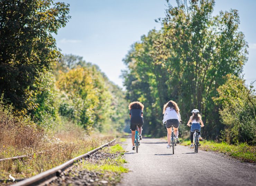
M 113 135 L 89 135 L 83 127 L 63 120 L 43 131 L 27 117 L 15 116 L 0 101 L 0 158 L 28 155 L 0 162 L 0 179 L 26 178 L 66 162 L 110 141 Z M 37 154 L 37 152 L 43 152 Z

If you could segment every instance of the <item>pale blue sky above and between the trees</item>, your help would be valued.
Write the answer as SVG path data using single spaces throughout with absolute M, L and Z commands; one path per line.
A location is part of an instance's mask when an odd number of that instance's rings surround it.
M 72 18 L 55 36 L 65 54 L 83 56 L 97 64 L 109 79 L 122 86 L 122 59 L 132 43 L 149 30 L 161 28 L 154 20 L 165 16 L 165 0 L 58 0 L 70 4 Z M 175 0 L 170 0 L 175 5 Z M 246 83 L 256 80 L 256 1 L 216 0 L 213 15 L 237 9 L 239 30 L 249 44 L 249 58 L 244 66 Z M 254 83 L 256 85 L 256 83 Z

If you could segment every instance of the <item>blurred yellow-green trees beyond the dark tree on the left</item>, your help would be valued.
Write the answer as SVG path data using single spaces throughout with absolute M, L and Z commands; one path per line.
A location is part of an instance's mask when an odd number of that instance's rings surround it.
M 110 82 L 97 65 L 68 54 L 63 55 L 53 69 L 56 86 L 62 92 L 62 116 L 88 129 L 121 131 L 124 128 L 128 116 L 124 91 Z

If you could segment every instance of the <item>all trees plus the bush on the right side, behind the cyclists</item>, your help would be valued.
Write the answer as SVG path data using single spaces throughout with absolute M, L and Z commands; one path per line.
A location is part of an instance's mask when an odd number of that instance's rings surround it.
M 256 145 L 256 93 L 245 84 L 248 43 L 239 30 L 239 12 L 213 15 L 214 0 L 167 0 L 160 30 L 150 30 L 127 53 L 123 71 L 126 98 L 144 104 L 144 135 L 162 137 L 163 105 L 177 102 L 186 123 L 199 109 L 207 140 Z

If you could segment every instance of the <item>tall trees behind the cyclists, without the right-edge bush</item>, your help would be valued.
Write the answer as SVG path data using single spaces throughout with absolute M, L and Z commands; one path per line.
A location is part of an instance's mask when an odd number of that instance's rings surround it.
M 223 125 L 212 97 L 227 74 L 239 76 L 247 61 L 247 42 L 238 30 L 237 10 L 213 17 L 213 0 L 168 3 L 160 31 L 152 30 L 132 46 L 125 58 L 125 86 L 130 100 L 145 102 L 145 123 L 153 135 L 163 135 L 162 106 L 174 100 L 182 120 L 197 108 L 203 115 L 203 135 L 218 138 Z M 132 98 L 132 99 L 131 99 Z M 147 119 L 148 118 L 148 119 Z M 146 127 L 146 125 L 145 125 Z M 185 132 L 185 127 L 181 127 Z

